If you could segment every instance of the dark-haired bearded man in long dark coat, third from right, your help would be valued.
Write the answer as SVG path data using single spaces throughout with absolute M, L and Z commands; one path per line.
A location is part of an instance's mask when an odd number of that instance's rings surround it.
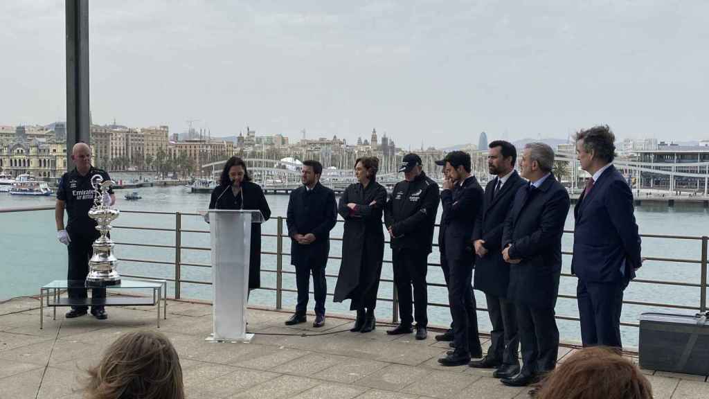
M 502 258 L 502 230 L 510 205 L 525 180 L 515 171 L 517 150 L 507 141 L 493 141 L 488 169 L 496 177 L 485 187 L 483 212 L 473 232 L 476 253 L 473 287 L 485 293 L 492 330 L 487 355 L 470 362 L 471 367 L 497 368 L 495 378 L 510 378 L 520 371 L 515 305 L 507 300 L 510 265 Z

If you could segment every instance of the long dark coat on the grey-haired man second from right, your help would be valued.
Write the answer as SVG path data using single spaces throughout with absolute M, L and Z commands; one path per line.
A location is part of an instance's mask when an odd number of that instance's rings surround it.
M 553 308 L 562 273 L 562 234 L 569 213 L 569 193 L 549 175 L 539 188 L 523 185 L 505 220 L 503 248 L 511 244 L 507 299 L 538 309 Z

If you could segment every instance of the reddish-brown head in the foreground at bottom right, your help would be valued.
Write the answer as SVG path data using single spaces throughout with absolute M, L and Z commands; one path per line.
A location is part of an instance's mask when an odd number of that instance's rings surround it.
M 613 349 L 592 346 L 564 359 L 542 382 L 539 399 L 651 399 L 652 387 Z

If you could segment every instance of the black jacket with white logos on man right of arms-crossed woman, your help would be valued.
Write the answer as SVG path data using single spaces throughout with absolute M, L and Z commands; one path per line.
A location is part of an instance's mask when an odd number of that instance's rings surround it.
M 418 249 L 431 253 L 438 211 L 438 185 L 420 173 L 413 181 L 394 185 L 384 209 L 384 224 L 391 227 L 391 248 Z

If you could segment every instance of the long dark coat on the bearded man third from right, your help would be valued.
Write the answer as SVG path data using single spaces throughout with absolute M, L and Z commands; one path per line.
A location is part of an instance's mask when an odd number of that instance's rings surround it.
M 474 288 L 497 297 L 506 297 L 510 264 L 502 258 L 502 229 L 515 194 L 525 185 L 525 180 L 516 170 L 513 171 L 493 199 L 497 181 L 497 178 L 492 179 L 485 187 L 483 212 L 478 214 L 473 231 L 473 240 L 485 241 L 483 246 L 488 251 L 482 258 L 476 256 Z

